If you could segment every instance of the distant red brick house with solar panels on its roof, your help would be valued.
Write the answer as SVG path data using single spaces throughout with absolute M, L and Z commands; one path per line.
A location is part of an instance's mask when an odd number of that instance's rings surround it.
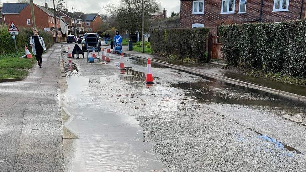
M 85 32 L 98 32 L 100 26 L 103 24 L 103 20 L 98 13 L 81 14 L 82 25 Z

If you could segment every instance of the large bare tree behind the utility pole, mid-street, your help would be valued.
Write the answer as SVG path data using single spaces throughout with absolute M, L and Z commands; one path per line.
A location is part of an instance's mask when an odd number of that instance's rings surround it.
M 142 0 L 120 0 L 121 6 L 116 7 L 109 4 L 106 9 L 115 18 L 116 28 L 121 32 L 135 33 L 141 30 L 141 3 Z M 152 15 L 160 11 L 160 3 L 156 0 L 143 0 L 145 20 L 150 19 Z M 145 22 L 147 23 L 147 22 Z M 147 28 L 145 24 L 145 28 Z

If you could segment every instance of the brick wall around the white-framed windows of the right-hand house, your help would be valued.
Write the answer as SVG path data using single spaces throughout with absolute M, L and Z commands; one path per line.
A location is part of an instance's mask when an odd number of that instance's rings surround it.
M 262 10 L 262 21 L 273 22 L 283 20 L 299 19 L 302 0 L 290 0 L 289 11 L 272 12 L 274 0 L 264 0 Z M 305 1 L 306 2 L 306 1 Z M 245 22 L 256 22 L 260 16 L 261 0 L 247 0 L 246 13 L 239 14 L 239 0 L 235 1 L 235 13 L 221 14 L 222 0 L 205 0 L 204 14 L 192 14 L 193 1 L 181 0 L 181 27 L 191 28 L 193 23 L 204 24 L 210 28 L 211 32 L 216 33 L 221 23 L 240 24 Z M 304 3 L 304 10 L 306 3 Z M 303 13 L 305 18 L 305 12 Z

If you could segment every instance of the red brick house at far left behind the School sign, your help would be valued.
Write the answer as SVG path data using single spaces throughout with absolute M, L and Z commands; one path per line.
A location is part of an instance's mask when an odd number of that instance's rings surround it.
M 37 29 L 45 29 L 55 38 L 54 14 L 43 6 L 34 4 L 34 15 Z M 33 28 L 30 4 L 27 3 L 3 3 L 1 11 L 2 21 L 8 26 L 13 21 L 17 27 Z M 57 35 L 61 35 L 60 18 L 56 17 Z

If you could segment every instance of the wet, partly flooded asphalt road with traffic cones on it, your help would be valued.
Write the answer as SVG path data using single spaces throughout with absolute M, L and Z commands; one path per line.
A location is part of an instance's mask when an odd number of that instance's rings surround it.
M 66 72 L 62 97 L 79 136 L 64 141 L 66 171 L 306 170 L 305 102 L 153 62 L 156 84 L 146 85 L 146 61 L 124 57 L 121 71 L 110 57 L 72 59 Z

